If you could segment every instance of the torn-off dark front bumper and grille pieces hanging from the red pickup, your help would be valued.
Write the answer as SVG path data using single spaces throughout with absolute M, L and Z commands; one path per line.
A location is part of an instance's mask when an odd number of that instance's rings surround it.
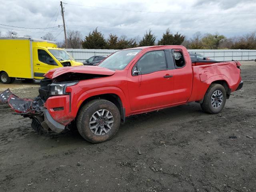
M 48 109 L 44 107 L 45 101 L 40 96 L 34 100 L 22 99 L 7 89 L 0 94 L 0 102 L 8 103 L 16 114 L 36 120 L 45 131 L 52 130 L 60 133 L 66 128 L 65 124 L 63 125 L 52 118 Z M 40 129 L 36 128 L 35 130 L 41 133 Z

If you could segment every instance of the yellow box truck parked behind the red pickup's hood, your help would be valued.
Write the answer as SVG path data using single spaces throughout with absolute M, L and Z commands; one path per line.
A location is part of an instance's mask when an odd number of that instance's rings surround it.
M 15 78 L 40 80 L 48 70 L 83 65 L 53 41 L 35 38 L 0 38 L 0 81 Z

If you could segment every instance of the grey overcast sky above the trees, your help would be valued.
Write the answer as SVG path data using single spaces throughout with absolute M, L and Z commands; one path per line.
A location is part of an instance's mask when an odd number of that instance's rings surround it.
M 159 39 L 166 28 L 187 38 L 197 31 L 218 32 L 227 37 L 256 31 L 256 0 L 64 0 L 64 3 L 67 3 L 63 4 L 67 29 L 79 30 L 83 36 L 97 26 L 106 38 L 109 33 L 141 38 L 151 29 Z M 58 41 L 64 39 L 63 27 L 49 28 L 63 24 L 60 1 L 0 0 L 0 6 L 0 24 L 9 25 L 0 25 L 2 35 L 12 29 L 21 36 L 40 38 L 53 31 Z

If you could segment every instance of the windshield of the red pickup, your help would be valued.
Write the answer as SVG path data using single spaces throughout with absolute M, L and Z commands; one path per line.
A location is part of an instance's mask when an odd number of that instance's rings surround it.
M 103 60 L 98 66 L 110 70 L 123 70 L 141 49 L 117 51 Z

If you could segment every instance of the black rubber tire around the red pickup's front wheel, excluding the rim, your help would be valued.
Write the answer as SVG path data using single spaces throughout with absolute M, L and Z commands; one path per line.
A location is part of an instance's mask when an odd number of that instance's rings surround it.
M 98 110 L 108 110 L 113 116 L 112 128 L 104 135 L 96 135 L 90 129 L 90 119 Z M 91 143 L 110 140 L 118 132 L 120 126 L 120 112 L 115 104 L 108 100 L 96 99 L 85 104 L 79 111 L 76 125 L 80 135 Z M 93 130 L 94 131 L 94 130 Z

